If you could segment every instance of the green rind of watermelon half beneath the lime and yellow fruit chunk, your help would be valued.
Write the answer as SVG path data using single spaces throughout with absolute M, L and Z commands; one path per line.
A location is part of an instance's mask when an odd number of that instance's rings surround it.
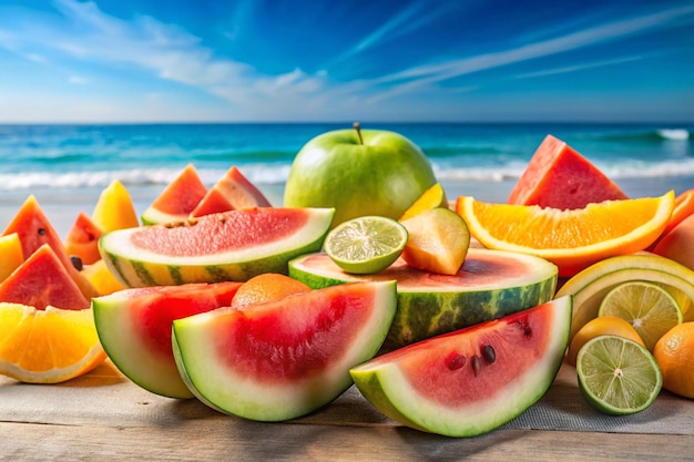
M 461 329 L 531 308 L 554 297 L 558 268 L 548 260 L 519 253 L 470 248 L 468 258 L 481 253 L 507 261 L 525 265 L 520 276 L 499 278 L 493 285 L 480 287 L 456 286 L 398 286 L 398 311 L 388 333 L 394 347 L 409 345 L 440 333 Z M 369 280 L 370 276 L 349 275 L 336 267 L 334 271 L 307 268 L 304 255 L 289 261 L 289 276 L 312 288 L 327 287 L 355 280 Z M 412 269 L 412 271 L 417 271 Z

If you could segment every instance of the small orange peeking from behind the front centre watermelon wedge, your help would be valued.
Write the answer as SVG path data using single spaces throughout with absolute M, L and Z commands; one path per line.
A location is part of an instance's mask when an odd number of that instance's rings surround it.
M 232 299 L 234 308 L 276 301 L 294 294 L 307 292 L 310 287 L 278 273 L 265 273 L 244 283 Z

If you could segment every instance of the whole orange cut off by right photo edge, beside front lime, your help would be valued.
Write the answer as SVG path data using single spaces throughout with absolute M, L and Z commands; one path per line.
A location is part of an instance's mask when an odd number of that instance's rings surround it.
M 670 329 L 653 348 L 663 372 L 663 388 L 694 399 L 694 321 Z

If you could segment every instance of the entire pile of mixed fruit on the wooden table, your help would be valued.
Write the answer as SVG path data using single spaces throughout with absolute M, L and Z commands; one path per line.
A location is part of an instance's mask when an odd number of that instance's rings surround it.
M 520 414 L 564 359 L 609 413 L 694 398 L 694 189 L 629 198 L 548 136 L 508 203 L 449 203 L 414 143 L 355 129 L 307 143 L 284 207 L 188 165 L 143 226 L 115 182 L 61 243 L 30 198 L 0 239 L 0 372 L 67 380 L 103 346 L 139 386 L 225 413 L 292 419 L 354 382 L 456 437 Z M 38 278 L 54 290 L 31 298 Z M 55 366 L 39 318 L 69 347 Z

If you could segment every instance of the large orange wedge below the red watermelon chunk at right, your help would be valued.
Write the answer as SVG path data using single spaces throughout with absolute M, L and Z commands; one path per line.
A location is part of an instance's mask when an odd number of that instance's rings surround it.
M 460 196 L 456 211 L 484 247 L 543 257 L 560 277 L 616 255 L 649 247 L 663 232 L 674 207 L 674 192 L 589 204 L 585 208 L 490 204 Z

